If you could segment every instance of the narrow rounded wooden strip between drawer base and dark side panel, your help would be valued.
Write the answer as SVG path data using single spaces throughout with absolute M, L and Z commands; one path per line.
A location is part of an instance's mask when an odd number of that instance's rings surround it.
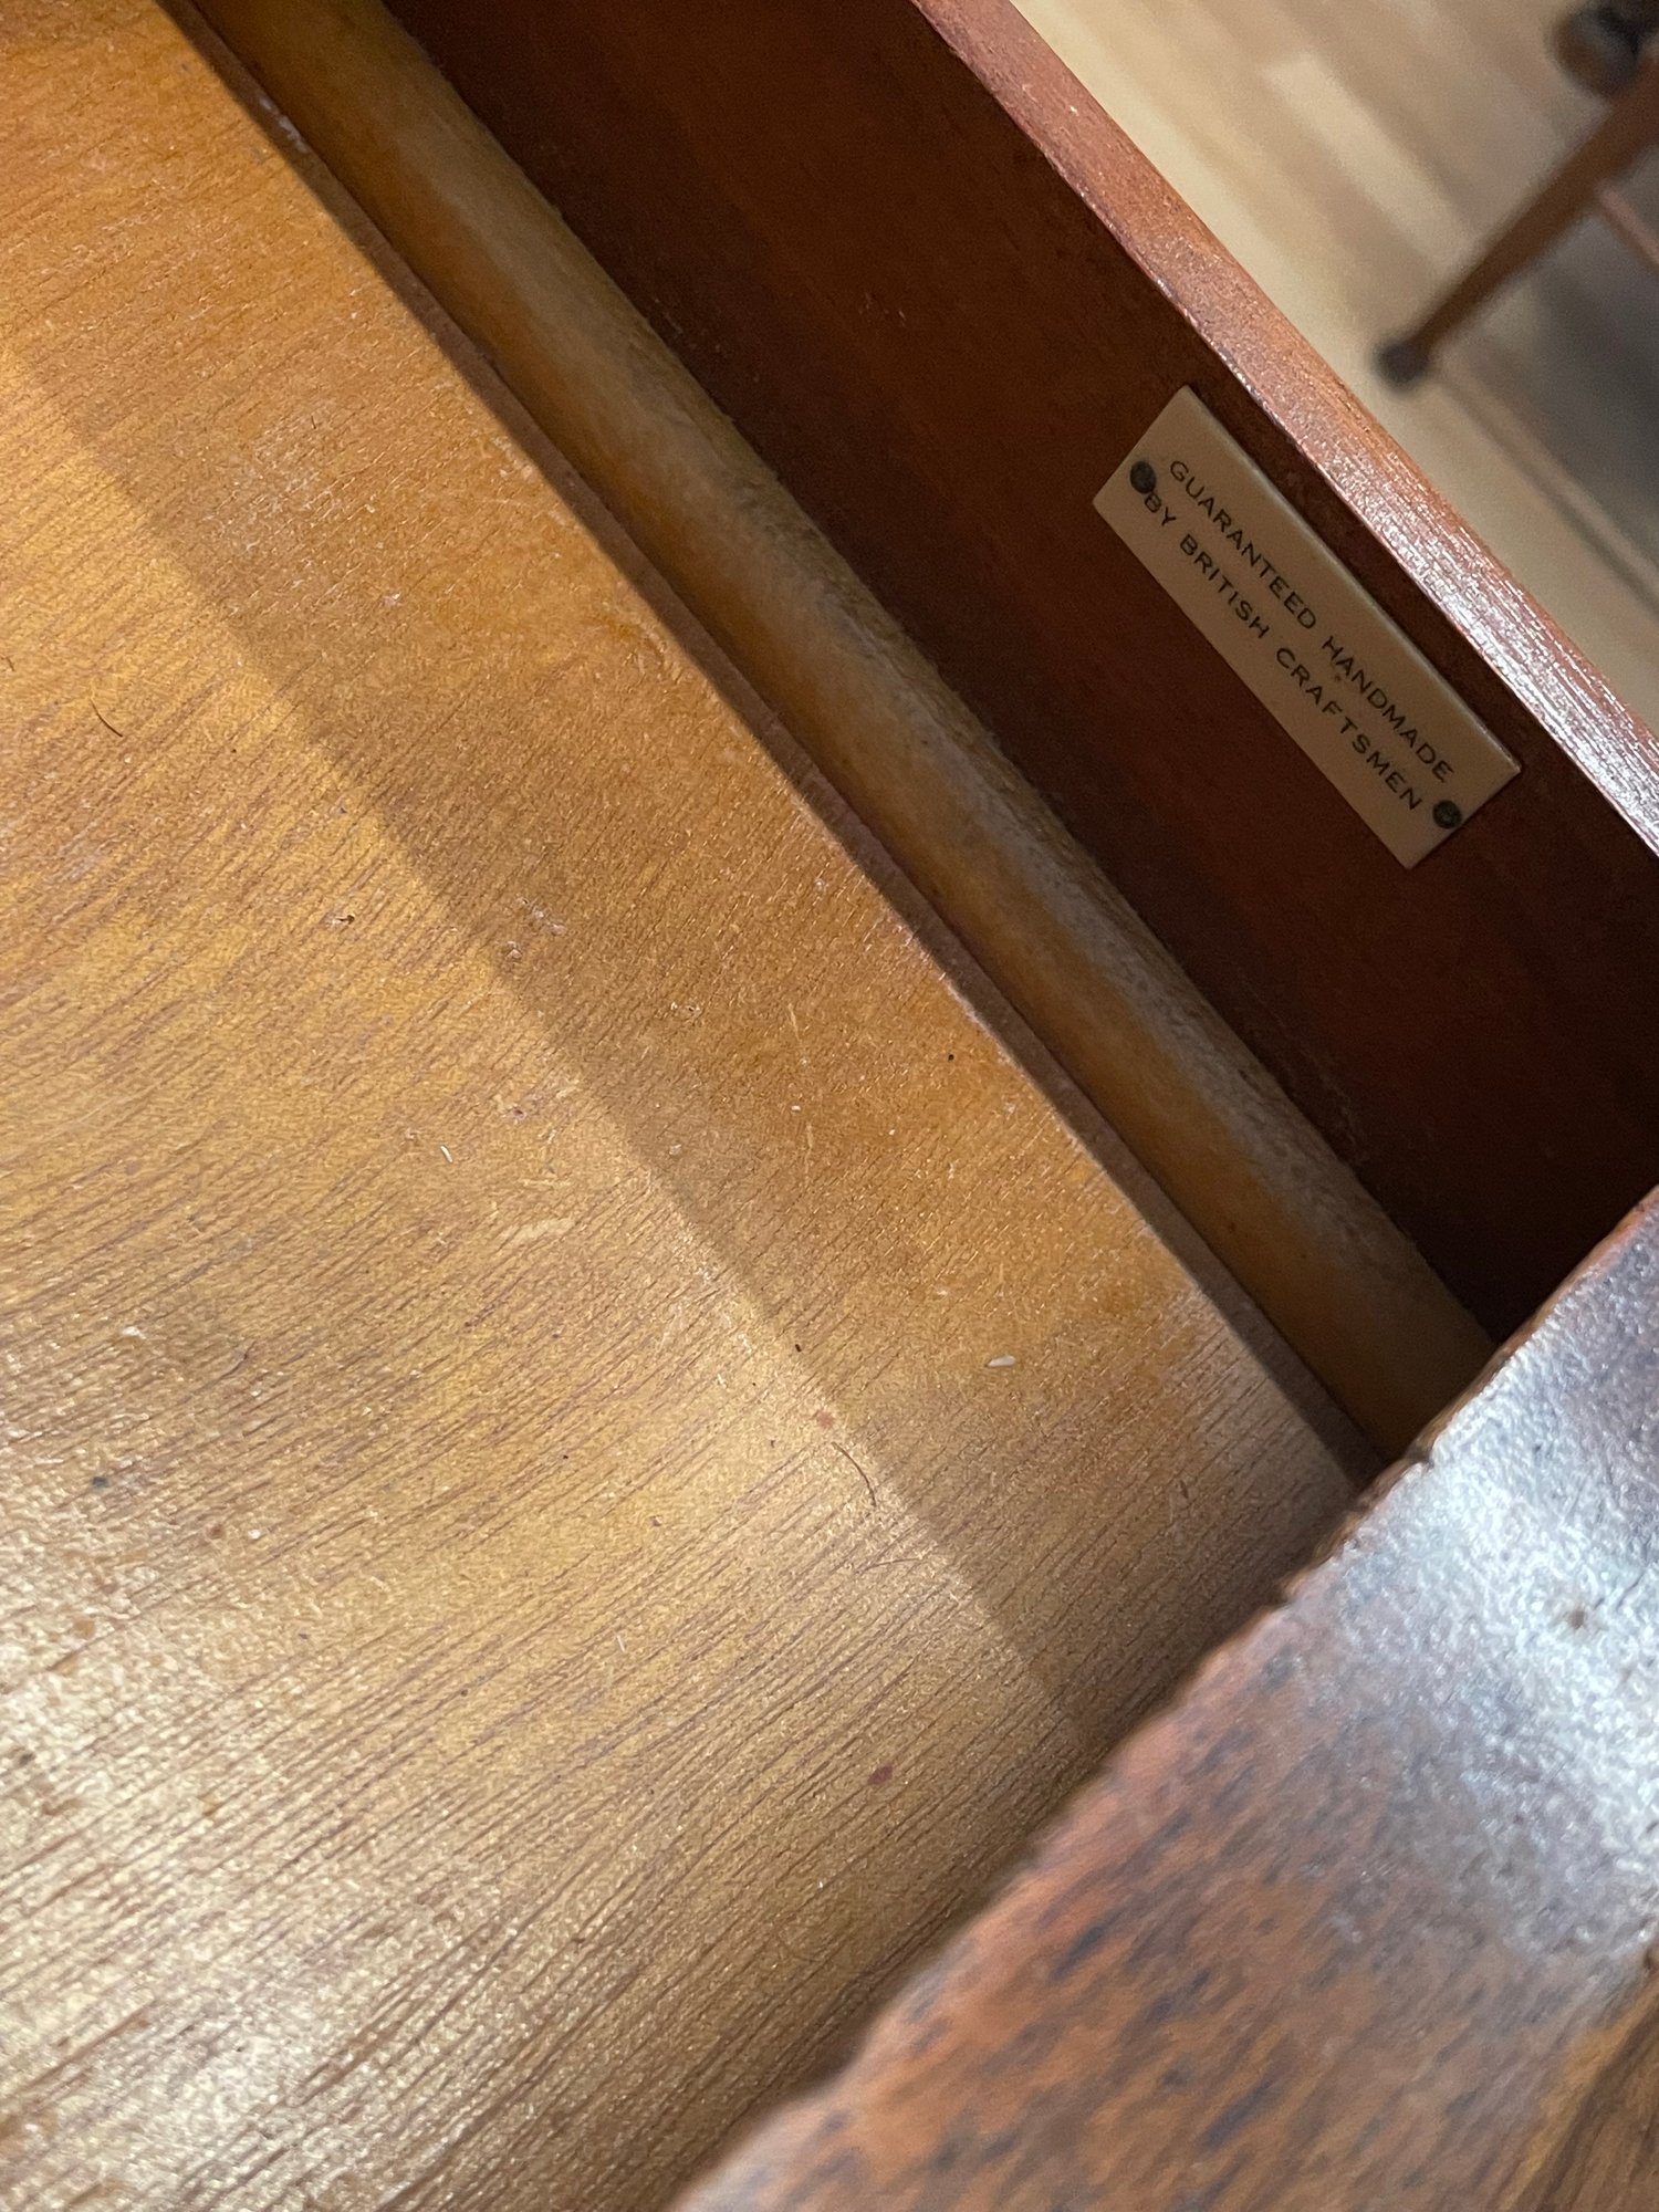
M 1491 1340 L 684 363 L 378 0 L 208 13 L 1338 1405 L 1402 1451 Z

